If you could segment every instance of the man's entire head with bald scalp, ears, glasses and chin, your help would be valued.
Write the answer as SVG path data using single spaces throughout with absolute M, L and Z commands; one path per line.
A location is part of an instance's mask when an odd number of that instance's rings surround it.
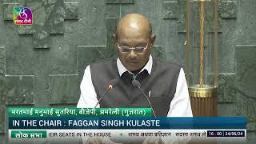
M 146 17 L 127 14 L 118 21 L 113 38 L 122 65 L 136 74 L 148 62 L 156 36 Z

